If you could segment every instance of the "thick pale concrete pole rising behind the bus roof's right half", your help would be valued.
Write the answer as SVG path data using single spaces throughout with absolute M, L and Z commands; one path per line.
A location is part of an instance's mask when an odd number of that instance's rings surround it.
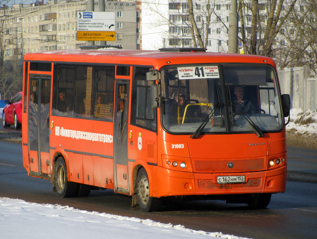
M 231 0 L 229 13 L 229 53 L 238 53 L 238 13 L 237 0 Z

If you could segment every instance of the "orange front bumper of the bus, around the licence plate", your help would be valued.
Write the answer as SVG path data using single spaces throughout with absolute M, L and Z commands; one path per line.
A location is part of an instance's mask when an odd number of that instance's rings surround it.
M 173 171 L 158 167 L 157 197 L 183 195 L 225 195 L 283 193 L 287 166 L 260 172 L 204 174 Z M 245 183 L 217 184 L 217 176 L 245 175 Z

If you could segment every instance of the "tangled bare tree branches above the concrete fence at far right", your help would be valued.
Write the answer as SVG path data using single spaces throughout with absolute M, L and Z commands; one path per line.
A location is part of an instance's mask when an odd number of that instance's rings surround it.
M 311 76 L 317 75 L 317 6 L 309 0 L 298 0 L 288 22 L 281 28 L 280 47 L 273 51 L 280 69 L 309 66 Z

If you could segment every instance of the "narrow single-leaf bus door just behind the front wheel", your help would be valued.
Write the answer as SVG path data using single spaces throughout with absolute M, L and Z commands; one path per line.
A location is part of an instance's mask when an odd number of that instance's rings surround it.
M 116 81 L 114 109 L 114 187 L 117 192 L 129 193 L 127 145 L 129 82 Z

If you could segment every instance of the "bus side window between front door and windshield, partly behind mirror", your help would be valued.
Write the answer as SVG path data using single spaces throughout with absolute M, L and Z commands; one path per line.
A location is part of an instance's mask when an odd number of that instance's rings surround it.
M 148 67 L 135 67 L 132 80 L 131 124 L 156 131 L 156 111 L 150 106 L 150 85 L 146 81 Z

